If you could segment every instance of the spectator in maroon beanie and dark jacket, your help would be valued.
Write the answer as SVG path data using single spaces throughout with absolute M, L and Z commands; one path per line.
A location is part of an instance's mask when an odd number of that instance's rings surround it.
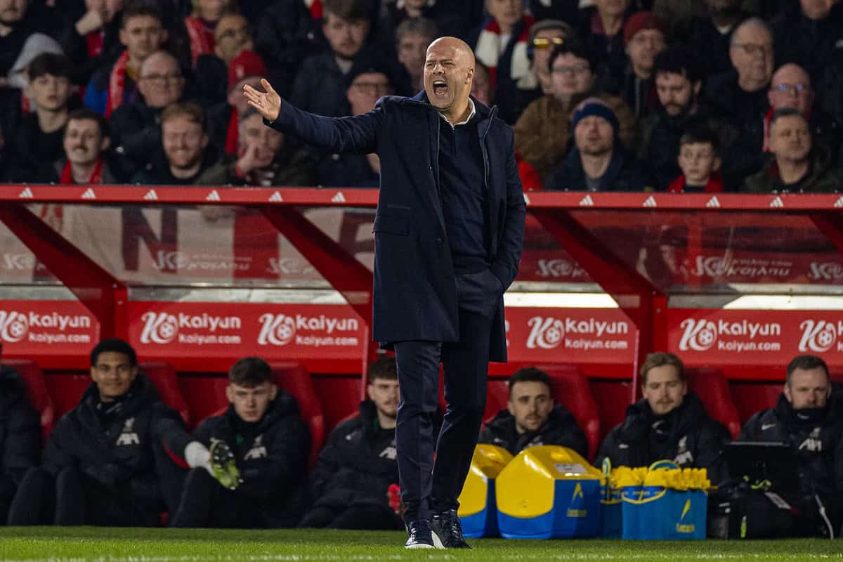
M 657 104 L 652 66 L 664 50 L 668 26 L 652 12 L 638 12 L 624 24 L 626 68 L 623 74 L 606 74 L 600 82 L 609 94 L 620 95 L 636 119 L 650 115 Z

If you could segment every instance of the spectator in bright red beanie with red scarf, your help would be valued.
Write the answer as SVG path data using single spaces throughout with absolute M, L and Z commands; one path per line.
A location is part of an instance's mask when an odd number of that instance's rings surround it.
M 244 84 L 257 88 L 266 77 L 266 65 L 253 51 L 243 51 L 228 65 L 228 94 L 221 104 L 208 110 L 208 130 L 212 144 L 228 155 L 237 154 L 239 117 L 248 111 L 243 95 Z

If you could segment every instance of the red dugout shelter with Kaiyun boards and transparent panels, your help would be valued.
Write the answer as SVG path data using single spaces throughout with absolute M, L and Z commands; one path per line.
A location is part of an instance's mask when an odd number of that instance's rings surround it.
M 843 368 L 840 195 L 525 199 L 510 364 L 493 376 L 576 364 L 606 431 L 649 351 L 720 369 L 742 419 L 741 381 L 780 381 L 804 352 Z M 7 356 L 39 362 L 48 388 L 87 370 L 106 335 L 189 373 L 179 386 L 195 419 L 210 399 L 194 398 L 198 385 L 239 356 L 341 377 L 371 356 L 376 190 L 0 185 L 0 202 L 0 339 Z M 32 211 L 43 204 L 62 205 L 56 230 Z M 206 206 L 228 214 L 206 219 Z M 335 409 L 329 380 L 317 392 L 333 425 L 359 393 Z

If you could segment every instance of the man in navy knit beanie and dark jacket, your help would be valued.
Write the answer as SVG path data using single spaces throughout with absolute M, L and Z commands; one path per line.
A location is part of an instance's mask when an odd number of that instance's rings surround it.
M 652 190 L 642 164 L 618 142 L 618 118 L 602 100 L 585 99 L 571 128 L 576 147 L 545 179 L 545 190 Z

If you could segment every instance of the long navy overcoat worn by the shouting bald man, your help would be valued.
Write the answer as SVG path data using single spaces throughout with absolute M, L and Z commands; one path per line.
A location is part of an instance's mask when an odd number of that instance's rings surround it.
M 491 272 L 501 281 L 491 328 L 490 361 L 506 361 L 503 292 L 518 274 L 524 241 L 524 194 L 513 131 L 474 100 L 486 178 Z M 373 339 L 459 340 L 454 264 L 448 247 L 439 180 L 439 127 L 448 126 L 423 91 L 387 96 L 372 111 L 323 117 L 282 102 L 279 131 L 336 153 L 378 153 L 380 194 L 375 213 Z

